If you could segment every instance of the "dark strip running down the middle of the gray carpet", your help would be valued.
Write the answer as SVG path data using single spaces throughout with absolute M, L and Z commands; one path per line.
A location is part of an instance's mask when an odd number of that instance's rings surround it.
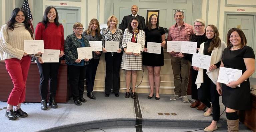
M 141 110 L 140 110 L 140 103 L 138 99 L 138 94 L 135 93 L 135 99 L 134 101 L 134 109 L 135 109 L 135 114 L 136 114 L 136 132 L 142 132 L 142 115 L 141 115 Z

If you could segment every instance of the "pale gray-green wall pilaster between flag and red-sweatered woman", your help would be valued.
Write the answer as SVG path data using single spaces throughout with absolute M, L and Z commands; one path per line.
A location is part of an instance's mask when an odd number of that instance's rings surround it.
M 33 0 L 33 25 L 34 30 L 36 29 L 37 23 L 42 21 L 43 18 L 43 1 L 42 0 Z

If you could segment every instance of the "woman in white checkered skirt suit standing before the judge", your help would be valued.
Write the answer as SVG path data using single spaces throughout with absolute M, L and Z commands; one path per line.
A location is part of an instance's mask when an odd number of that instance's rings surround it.
M 140 53 L 132 53 L 126 52 L 127 42 L 135 42 L 140 44 Z M 122 40 L 122 48 L 124 49 L 121 69 L 126 70 L 126 94 L 125 98 L 130 97 L 129 87 L 131 83 L 132 76 L 132 95 L 131 97 L 135 98 L 135 85 L 137 81 L 137 70 L 142 70 L 142 55 L 143 49 L 145 45 L 145 33 L 140 29 L 140 23 L 138 18 L 132 17 L 128 28 L 125 29 L 123 40 Z

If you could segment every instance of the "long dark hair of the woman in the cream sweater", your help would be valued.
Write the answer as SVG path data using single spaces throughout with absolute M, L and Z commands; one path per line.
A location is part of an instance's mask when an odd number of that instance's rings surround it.
M 7 22 L 8 25 L 8 29 L 10 29 L 11 31 L 14 30 L 14 24 L 16 22 L 15 17 L 17 16 L 18 12 L 21 11 L 23 12 L 24 16 L 25 16 L 25 20 L 24 20 L 24 25 L 25 25 L 25 29 L 30 33 L 31 37 L 34 38 L 33 36 L 33 31 L 30 28 L 30 23 L 29 23 L 29 17 L 28 14 L 26 13 L 26 11 L 23 8 L 17 7 L 12 11 L 12 15 L 9 19 L 9 21 Z

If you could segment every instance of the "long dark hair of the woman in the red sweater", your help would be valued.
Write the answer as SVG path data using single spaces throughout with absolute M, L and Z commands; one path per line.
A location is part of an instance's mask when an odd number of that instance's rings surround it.
M 49 12 L 52 8 L 53 8 L 53 9 L 55 10 L 55 12 L 56 12 L 56 18 L 54 19 L 55 25 L 57 25 L 57 26 L 61 25 L 61 23 L 59 23 L 59 15 L 58 15 L 57 9 L 56 9 L 54 6 L 48 6 L 48 7 L 44 10 L 43 20 L 41 21 L 41 23 L 44 24 L 45 29 L 47 28 L 48 22 L 49 22 L 47 15 L 48 15 L 48 12 Z

